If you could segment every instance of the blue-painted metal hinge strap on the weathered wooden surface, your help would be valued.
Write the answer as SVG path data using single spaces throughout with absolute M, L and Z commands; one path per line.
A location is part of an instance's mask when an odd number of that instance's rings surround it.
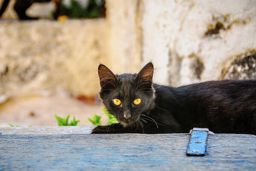
M 189 145 L 186 151 L 187 156 L 204 156 L 207 145 L 208 134 L 214 133 L 208 128 L 193 128 L 190 130 Z

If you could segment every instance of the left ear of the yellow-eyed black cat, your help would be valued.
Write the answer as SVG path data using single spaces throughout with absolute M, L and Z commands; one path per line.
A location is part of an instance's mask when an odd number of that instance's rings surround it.
M 108 69 L 103 64 L 100 64 L 98 67 L 99 74 L 99 84 L 100 87 L 104 88 L 113 88 L 116 87 L 116 76 L 113 74 L 111 70 Z

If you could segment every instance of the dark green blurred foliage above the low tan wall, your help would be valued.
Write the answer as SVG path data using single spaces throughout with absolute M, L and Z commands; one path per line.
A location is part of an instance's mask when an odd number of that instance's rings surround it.
M 83 7 L 76 0 L 70 0 L 70 6 L 61 3 L 60 15 L 70 18 L 97 18 L 105 17 L 105 0 L 88 0 L 87 6 Z

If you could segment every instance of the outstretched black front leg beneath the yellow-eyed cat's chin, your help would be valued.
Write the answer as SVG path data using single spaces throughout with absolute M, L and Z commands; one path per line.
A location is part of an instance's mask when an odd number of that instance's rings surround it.
M 128 133 L 120 123 L 97 126 L 93 129 L 92 133 Z

